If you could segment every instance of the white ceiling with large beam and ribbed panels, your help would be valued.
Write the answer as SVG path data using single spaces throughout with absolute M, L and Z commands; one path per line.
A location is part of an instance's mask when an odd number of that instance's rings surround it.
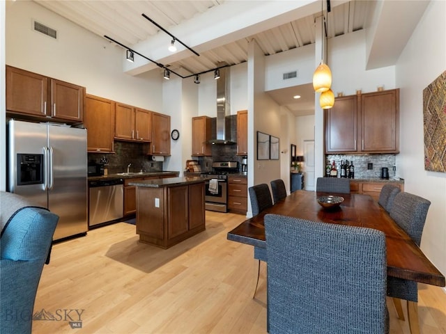
M 125 68 L 129 74 L 159 70 L 155 64 L 159 63 L 182 77 L 213 70 L 221 63 L 235 65 L 247 61 L 247 45 L 253 38 L 265 55 L 312 44 L 316 37 L 315 19 L 321 15 L 322 5 L 324 12 L 327 8 L 326 1 L 316 0 L 33 1 L 97 35 L 107 35 L 118 42 L 117 45 L 137 51 L 134 63 Z M 393 65 L 428 2 L 332 0 L 328 38 L 373 29 L 367 67 Z M 398 24 L 395 13 L 404 17 Z M 194 49 L 199 56 L 178 41 L 178 51 L 172 54 L 167 50 L 171 36 L 142 14 Z M 293 100 L 295 92 L 302 92 L 300 95 L 305 98 Z M 314 110 L 311 84 L 268 93 L 295 115 Z

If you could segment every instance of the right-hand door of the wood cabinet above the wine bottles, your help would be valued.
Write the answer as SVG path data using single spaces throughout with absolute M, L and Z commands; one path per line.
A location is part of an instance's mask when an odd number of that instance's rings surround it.
M 399 90 L 361 97 L 362 152 L 399 152 Z

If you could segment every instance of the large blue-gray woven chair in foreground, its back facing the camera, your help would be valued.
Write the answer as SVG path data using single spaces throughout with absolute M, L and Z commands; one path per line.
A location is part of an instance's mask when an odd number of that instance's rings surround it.
M 264 221 L 268 333 L 387 333 L 383 232 L 275 214 Z

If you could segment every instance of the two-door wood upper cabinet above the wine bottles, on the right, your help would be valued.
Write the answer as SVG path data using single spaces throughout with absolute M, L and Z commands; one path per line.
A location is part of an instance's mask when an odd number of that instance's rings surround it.
M 325 153 L 399 152 L 399 89 L 337 97 L 324 116 Z

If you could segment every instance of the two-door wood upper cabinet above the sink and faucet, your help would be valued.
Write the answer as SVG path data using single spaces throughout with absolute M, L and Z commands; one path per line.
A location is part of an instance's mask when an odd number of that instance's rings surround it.
M 114 137 L 124 141 L 151 141 L 152 112 L 116 102 Z

